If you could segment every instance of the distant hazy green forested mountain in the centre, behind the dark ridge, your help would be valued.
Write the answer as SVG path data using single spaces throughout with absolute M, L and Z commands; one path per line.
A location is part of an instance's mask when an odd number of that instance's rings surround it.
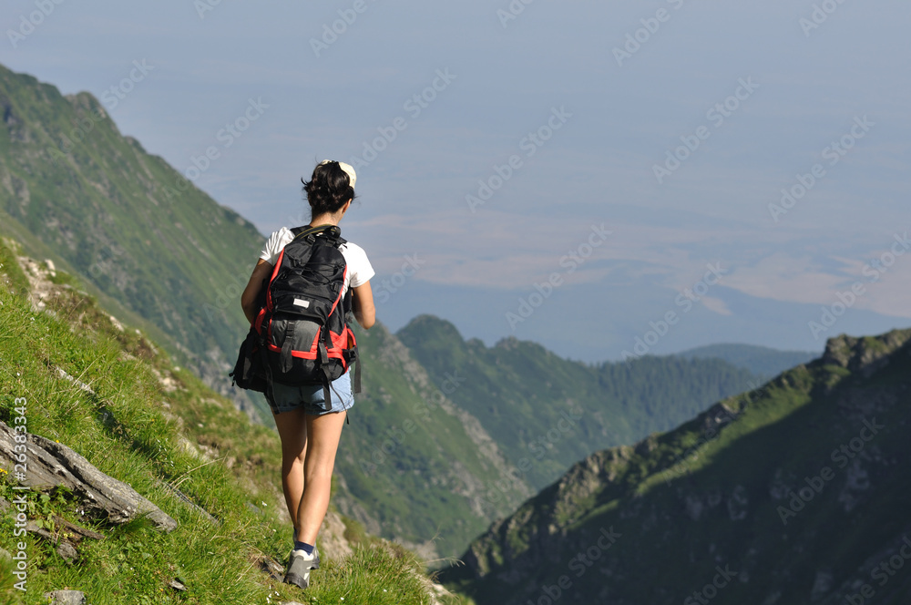
M 758 384 L 757 376 L 719 359 L 647 355 L 589 365 L 514 338 L 487 348 L 430 315 L 397 336 L 535 489 L 592 452 L 678 426 Z M 497 496 L 489 491 L 486 502 Z

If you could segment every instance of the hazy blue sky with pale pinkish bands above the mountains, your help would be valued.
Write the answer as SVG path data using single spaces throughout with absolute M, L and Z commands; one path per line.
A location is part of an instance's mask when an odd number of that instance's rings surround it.
M 263 233 L 360 159 L 343 230 L 394 329 L 595 361 L 911 323 L 907 3 L 213 2 L 7 0 L 0 62 L 107 99 Z

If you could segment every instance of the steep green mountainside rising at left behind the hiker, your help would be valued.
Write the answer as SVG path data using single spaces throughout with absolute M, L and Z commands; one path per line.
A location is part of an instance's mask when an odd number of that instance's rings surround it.
M 179 363 L 231 394 L 259 231 L 122 136 L 87 93 L 0 66 L 0 114 L 0 231 L 157 326 Z

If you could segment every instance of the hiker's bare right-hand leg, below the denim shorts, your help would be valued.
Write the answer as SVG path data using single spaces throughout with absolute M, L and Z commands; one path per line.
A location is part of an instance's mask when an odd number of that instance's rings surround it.
M 321 416 L 306 416 L 306 457 L 303 465 L 303 497 L 297 512 L 297 539 L 307 544 L 316 543 L 316 534 L 322 526 L 322 519 L 329 508 L 329 492 L 332 488 L 335 452 L 347 412 Z

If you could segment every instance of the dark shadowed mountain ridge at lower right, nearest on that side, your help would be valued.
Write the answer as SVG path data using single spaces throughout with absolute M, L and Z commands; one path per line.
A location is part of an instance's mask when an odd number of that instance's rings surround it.
M 911 596 L 911 330 L 600 451 L 476 539 L 479 604 L 899 605 Z

